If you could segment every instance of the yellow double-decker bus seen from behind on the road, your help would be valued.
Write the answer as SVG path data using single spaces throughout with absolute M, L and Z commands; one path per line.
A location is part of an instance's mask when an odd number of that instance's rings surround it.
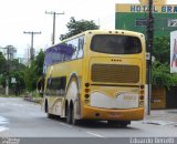
M 44 59 L 49 116 L 107 121 L 127 126 L 143 120 L 145 37 L 125 30 L 88 30 L 52 45 Z

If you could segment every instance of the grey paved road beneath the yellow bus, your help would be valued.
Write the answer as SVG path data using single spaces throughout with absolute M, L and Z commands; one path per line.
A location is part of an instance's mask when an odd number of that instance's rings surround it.
M 154 125 L 144 121 L 133 122 L 126 128 L 105 122 L 73 126 L 60 119 L 48 119 L 35 103 L 22 99 L 0 97 L 0 136 L 11 137 L 174 137 L 175 125 Z

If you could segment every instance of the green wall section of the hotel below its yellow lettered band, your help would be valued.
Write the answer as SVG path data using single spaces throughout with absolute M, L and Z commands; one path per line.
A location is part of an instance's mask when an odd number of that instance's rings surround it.
M 136 27 L 136 19 L 147 19 L 148 13 L 143 12 L 116 12 L 115 29 L 125 29 L 146 34 L 146 27 Z M 177 27 L 168 27 L 168 20 L 176 19 L 177 13 L 154 13 L 154 37 L 170 35 L 170 31 Z

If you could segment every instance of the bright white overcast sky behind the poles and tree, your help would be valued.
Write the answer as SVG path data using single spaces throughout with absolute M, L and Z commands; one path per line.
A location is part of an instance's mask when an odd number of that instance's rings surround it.
M 167 0 L 177 3 L 176 0 Z M 138 0 L 0 0 L 0 47 L 13 45 L 17 55 L 24 56 L 31 47 L 31 34 L 34 31 L 33 47 L 38 52 L 52 44 L 53 16 L 45 11 L 64 14 L 56 16 L 55 43 L 60 34 L 67 32 L 66 23 L 71 17 L 76 20 L 93 20 L 101 29 L 114 29 L 115 3 L 138 3 Z

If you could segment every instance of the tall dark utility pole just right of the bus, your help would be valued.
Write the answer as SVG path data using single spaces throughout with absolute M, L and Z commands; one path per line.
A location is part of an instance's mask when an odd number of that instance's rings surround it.
M 147 53 L 149 59 L 147 60 L 147 84 L 148 84 L 148 97 L 147 97 L 147 114 L 150 115 L 150 100 L 152 100 L 152 52 L 153 52 L 153 37 L 154 37 L 154 18 L 153 18 L 153 0 L 148 0 L 148 18 L 147 18 Z

